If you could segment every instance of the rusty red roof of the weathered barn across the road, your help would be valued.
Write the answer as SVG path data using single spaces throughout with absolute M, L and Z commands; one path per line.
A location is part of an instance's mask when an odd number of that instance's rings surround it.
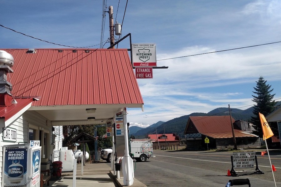
M 232 122 L 235 122 L 232 117 Z M 229 116 L 190 116 L 185 127 L 185 134 L 190 134 L 187 129 L 194 125 L 198 133 L 212 138 L 231 138 L 232 128 Z M 196 133 L 196 132 L 193 132 Z M 235 137 L 256 137 L 253 134 L 234 128 Z

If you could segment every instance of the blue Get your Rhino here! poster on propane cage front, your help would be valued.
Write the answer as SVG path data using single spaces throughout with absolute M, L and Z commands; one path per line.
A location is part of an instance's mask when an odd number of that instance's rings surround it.
M 28 146 L 4 146 L 2 186 L 27 185 L 27 150 Z

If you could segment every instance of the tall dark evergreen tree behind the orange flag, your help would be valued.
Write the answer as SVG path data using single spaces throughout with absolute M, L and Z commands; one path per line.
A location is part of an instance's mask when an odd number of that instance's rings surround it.
M 263 137 L 263 131 L 261 128 L 261 123 L 259 120 L 259 113 L 264 114 L 264 116 L 267 116 L 269 113 L 274 111 L 274 106 L 276 104 L 275 100 L 273 100 L 273 97 L 275 94 L 270 94 L 273 89 L 271 88 L 271 85 L 266 84 L 266 80 L 262 76 L 259 77 L 259 80 L 256 81 L 257 86 L 254 87 L 253 93 L 256 95 L 252 95 L 256 105 L 253 107 L 254 111 L 254 117 L 251 117 L 251 122 L 254 125 L 254 134 L 258 135 L 259 137 Z M 272 125 L 269 124 L 270 128 L 273 130 L 273 133 L 276 129 L 276 127 L 271 127 Z M 274 133 L 276 134 L 276 133 Z

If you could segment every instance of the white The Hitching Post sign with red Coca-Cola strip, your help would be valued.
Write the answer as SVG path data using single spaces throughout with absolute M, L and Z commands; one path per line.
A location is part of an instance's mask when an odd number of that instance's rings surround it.
M 132 44 L 132 61 L 134 67 L 155 67 L 155 44 Z

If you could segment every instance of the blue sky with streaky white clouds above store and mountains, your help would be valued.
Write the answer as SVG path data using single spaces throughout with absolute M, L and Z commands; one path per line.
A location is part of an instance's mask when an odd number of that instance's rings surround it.
M 126 1 L 107 0 L 113 17 L 122 22 Z M 117 11 L 118 9 L 118 11 Z M 281 41 L 281 1 L 128 1 L 122 36 L 132 43 L 156 44 L 153 79 L 137 79 L 144 99 L 128 109 L 131 125 L 147 127 L 158 121 L 218 107 L 251 107 L 259 76 L 272 85 L 281 101 L 281 43 L 196 55 Z M 0 2 L 0 24 L 45 41 L 66 46 L 100 48 L 102 1 Z M 108 11 L 108 8 L 106 9 Z M 104 40 L 109 37 L 105 13 Z M 115 21 L 115 20 L 114 20 Z M 109 47 L 105 43 L 103 48 Z M 129 48 L 128 39 L 118 48 Z M 0 27 L 0 48 L 66 48 Z M 187 55 L 184 58 L 162 60 Z

